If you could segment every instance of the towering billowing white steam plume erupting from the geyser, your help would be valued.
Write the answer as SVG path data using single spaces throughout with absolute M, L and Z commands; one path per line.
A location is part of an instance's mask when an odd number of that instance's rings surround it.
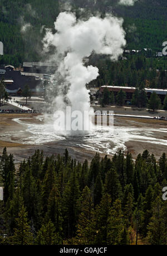
M 85 85 L 97 78 L 99 70 L 92 65 L 85 67 L 84 58 L 95 52 L 110 55 L 111 60 L 117 60 L 126 44 L 122 22 L 122 19 L 111 15 L 104 19 L 90 17 L 82 21 L 76 20 L 73 13 L 62 12 L 55 22 L 57 32 L 53 34 L 51 30 L 46 31 L 43 40 L 45 50 L 55 46 L 53 59 L 60 60 L 57 73 L 68 84 L 66 93 L 63 94 L 61 88 L 55 97 L 56 110 L 66 106 L 66 98 L 72 110 L 91 112 L 89 91 Z

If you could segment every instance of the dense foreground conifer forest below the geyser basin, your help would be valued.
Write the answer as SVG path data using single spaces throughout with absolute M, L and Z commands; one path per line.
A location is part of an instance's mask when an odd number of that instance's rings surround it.
M 88 163 L 43 157 L 37 150 L 16 169 L 1 155 L 0 243 L 3 245 L 166 244 L 167 157 L 145 150 L 134 162 L 119 151 Z

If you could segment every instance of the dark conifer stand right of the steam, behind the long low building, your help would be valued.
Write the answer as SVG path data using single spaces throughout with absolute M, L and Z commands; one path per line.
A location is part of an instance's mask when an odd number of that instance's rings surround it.
M 125 54 L 124 58 L 112 62 L 105 56 L 92 55 L 89 64 L 99 68 L 99 77 L 90 83 L 91 86 L 129 86 L 167 88 L 166 56 L 147 57 L 151 53 Z

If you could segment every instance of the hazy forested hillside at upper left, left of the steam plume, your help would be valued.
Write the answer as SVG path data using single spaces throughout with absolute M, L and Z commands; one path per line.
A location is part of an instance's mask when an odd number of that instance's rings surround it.
M 53 27 L 59 13 L 58 0 L 0 0 L 0 40 L 4 56 L 0 64 L 16 66 L 41 59 L 41 27 Z M 25 25 L 31 25 L 24 32 Z

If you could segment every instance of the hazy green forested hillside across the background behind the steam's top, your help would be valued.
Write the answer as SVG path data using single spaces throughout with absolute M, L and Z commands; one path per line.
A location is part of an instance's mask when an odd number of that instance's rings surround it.
M 96 2 L 96 3 L 95 3 Z M 4 56 L 0 64 L 19 65 L 23 61 L 41 59 L 41 27 L 53 27 L 58 13 L 65 10 L 65 0 L 0 0 L 0 40 L 4 42 Z M 71 0 L 72 10 L 81 16 L 86 13 L 101 15 L 112 12 L 123 17 L 127 49 L 152 48 L 161 50 L 167 40 L 167 2 L 165 0 L 138 0 L 134 6 L 121 6 L 117 0 Z M 86 15 L 87 15 L 86 14 Z M 24 33 L 23 27 L 28 24 Z M 30 26 L 31 25 L 31 26 Z M 22 29 L 22 32 L 21 32 Z

